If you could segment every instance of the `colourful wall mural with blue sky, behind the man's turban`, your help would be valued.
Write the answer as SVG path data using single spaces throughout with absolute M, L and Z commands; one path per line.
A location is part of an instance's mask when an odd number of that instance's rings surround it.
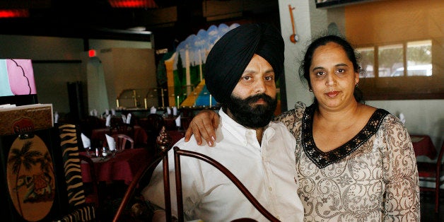
M 206 55 L 223 34 L 238 26 L 238 23 L 230 26 L 223 23 L 211 25 L 208 30 L 199 30 L 196 35 L 189 35 L 177 45 L 175 52 L 165 54 L 162 61 L 165 66 L 158 67 L 158 82 L 167 82 L 170 106 L 216 105 L 216 100 L 205 86 L 203 71 Z

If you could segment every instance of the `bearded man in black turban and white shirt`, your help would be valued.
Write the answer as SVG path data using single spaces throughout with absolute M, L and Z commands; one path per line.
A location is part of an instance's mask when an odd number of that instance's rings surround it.
M 216 145 L 199 146 L 192 136 L 175 144 L 223 164 L 262 206 L 280 221 L 303 221 L 297 190 L 296 139 L 284 124 L 270 122 L 276 108 L 276 79 L 283 70 L 284 40 L 267 24 L 246 24 L 223 35 L 209 52 L 204 70 L 209 92 L 221 104 Z M 170 189 L 177 215 L 173 151 Z M 180 158 L 183 212 L 187 221 L 269 221 L 228 177 L 197 158 Z M 157 206 L 163 200 L 163 172 L 158 165 L 144 197 Z

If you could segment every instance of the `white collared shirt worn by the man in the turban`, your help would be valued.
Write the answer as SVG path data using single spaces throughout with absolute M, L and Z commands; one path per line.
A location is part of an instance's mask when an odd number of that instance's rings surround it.
M 264 130 L 262 144 L 253 129 L 247 129 L 219 110 L 216 146 L 199 146 L 194 136 L 175 146 L 214 158 L 243 182 L 265 209 L 280 221 L 303 221 L 303 206 L 297 194 L 296 139 L 281 122 L 270 122 Z M 174 154 L 168 153 L 170 194 L 173 215 L 177 215 Z M 181 156 L 182 197 L 186 220 L 232 221 L 253 218 L 268 221 L 228 177 L 209 163 Z M 160 163 L 154 170 L 144 197 L 164 207 L 163 171 Z

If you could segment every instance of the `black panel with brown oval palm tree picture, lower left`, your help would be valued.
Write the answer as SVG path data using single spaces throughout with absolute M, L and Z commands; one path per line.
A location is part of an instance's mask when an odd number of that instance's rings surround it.
M 66 188 L 62 158 L 53 129 L 0 136 L 1 180 L 5 187 L 6 221 L 46 221 L 61 214 Z M 55 151 L 55 153 L 54 153 Z

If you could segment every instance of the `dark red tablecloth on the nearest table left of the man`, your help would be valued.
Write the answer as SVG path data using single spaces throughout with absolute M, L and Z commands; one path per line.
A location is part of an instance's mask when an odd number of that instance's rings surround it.
M 86 155 L 86 153 L 81 152 L 81 155 Z M 112 182 L 113 180 L 123 180 L 125 184 L 129 185 L 142 163 L 150 161 L 151 158 L 152 156 L 150 156 L 147 148 L 129 148 L 117 153 L 112 158 L 101 160 L 100 158 L 93 157 L 92 159 L 98 181 Z M 89 165 L 82 162 L 83 182 L 91 182 L 89 170 Z

